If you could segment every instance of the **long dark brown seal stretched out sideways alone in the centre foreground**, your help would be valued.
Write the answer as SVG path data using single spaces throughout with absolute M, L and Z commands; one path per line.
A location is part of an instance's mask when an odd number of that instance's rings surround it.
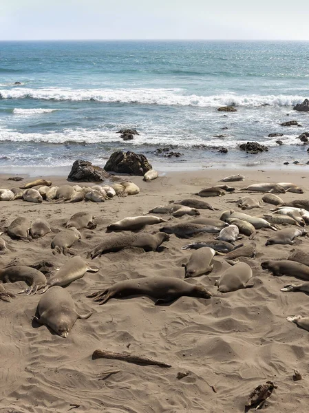
M 183 279 L 173 277 L 147 277 L 120 281 L 109 288 L 87 295 L 99 304 L 106 303 L 111 298 L 130 297 L 131 295 L 146 295 L 157 299 L 156 305 L 170 303 L 186 297 L 210 298 L 211 293 L 201 284 L 192 285 Z

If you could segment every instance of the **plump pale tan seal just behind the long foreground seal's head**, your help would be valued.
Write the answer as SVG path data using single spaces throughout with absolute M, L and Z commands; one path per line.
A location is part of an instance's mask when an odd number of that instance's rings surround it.
M 220 291 L 220 293 L 229 293 L 230 291 L 236 291 L 240 288 L 252 287 L 253 284 L 246 285 L 251 277 L 251 267 L 245 262 L 239 262 L 224 271 L 220 279 L 215 282 L 215 285 L 218 286 L 218 291 Z

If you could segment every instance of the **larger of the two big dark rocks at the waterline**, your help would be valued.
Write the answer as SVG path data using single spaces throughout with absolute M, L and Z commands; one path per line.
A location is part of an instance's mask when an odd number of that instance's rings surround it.
M 104 169 L 105 171 L 143 176 L 147 171 L 152 169 L 152 167 L 146 156 L 141 153 L 116 151 L 111 153 Z

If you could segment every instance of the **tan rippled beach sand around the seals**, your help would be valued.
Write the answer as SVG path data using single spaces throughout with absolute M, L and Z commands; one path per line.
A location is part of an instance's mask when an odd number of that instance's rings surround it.
M 56 232 L 77 211 L 91 211 L 96 216 L 97 228 L 81 230 L 83 239 L 72 247 L 76 254 L 85 257 L 87 251 L 100 242 L 107 224 L 140 215 L 169 200 L 189 198 L 203 187 L 219 184 L 218 179 L 231 173 L 246 176 L 244 182 L 231 183 L 237 189 L 254 182 L 295 182 L 305 193 L 286 193 L 280 195 L 281 198 L 308 198 L 309 177 L 301 172 L 206 169 L 170 173 L 151 183 L 131 177 L 140 186 L 138 195 L 116 197 L 102 204 L 1 202 L 1 227 L 19 216 L 28 216 L 31 220 L 45 218 Z M 19 182 L 7 178 L 1 176 L 0 188 L 18 186 Z M 23 182 L 30 180 L 26 178 Z M 53 184 L 67 183 L 64 178 L 52 180 Z M 253 197 L 261 199 L 262 195 L 257 193 Z M 227 201 L 238 196 L 236 191 L 220 198 L 200 198 L 220 209 L 200 210 L 201 216 L 219 218 L 222 211 L 237 209 L 236 204 Z M 244 212 L 259 215 L 271 207 L 265 204 L 264 209 Z M 171 222 L 189 220 L 191 217 L 185 215 L 172 218 Z M 160 226 L 162 224 L 147 226 L 145 231 L 153 233 Z M 41 298 L 39 294 L 17 295 L 10 303 L 0 301 L 0 412 L 68 412 L 70 409 L 89 413 L 244 412 L 248 394 L 266 380 L 278 386 L 267 401 L 268 412 L 308 412 L 309 332 L 286 321 L 286 317 L 309 315 L 309 299 L 304 293 L 280 291 L 285 284 L 297 282 L 293 277 L 274 277 L 262 271 L 260 262 L 288 257 L 293 248 L 290 245 L 266 247 L 270 235 L 273 235 L 271 230 L 257 233 L 253 288 L 224 295 L 217 293 L 215 280 L 228 264 L 224 257 L 215 257 L 215 268 L 210 275 L 189 279 L 193 284 L 206 286 L 213 297 L 181 297 L 169 306 L 154 306 L 149 297 L 111 299 L 98 306 L 86 295 L 124 279 L 155 275 L 183 278 L 181 264 L 191 252 L 181 250 L 181 246 L 190 240 L 171 235 L 161 253 L 131 248 L 93 260 L 92 264 L 100 271 L 86 273 L 66 288 L 81 313 L 93 310 L 94 314 L 86 320 L 78 319 L 67 339 L 32 323 Z M 41 260 L 63 265 L 70 257 L 52 254 L 52 237 L 54 233 L 27 243 L 11 240 L 4 234 L 8 251 L 0 256 L 1 266 L 12 260 L 25 265 Z M 193 240 L 213 237 L 215 235 L 198 235 Z M 308 238 L 300 238 L 297 246 L 308 250 Z M 23 282 L 6 284 L 12 293 L 24 286 Z M 92 360 L 96 349 L 145 355 L 172 367 Z M 301 372 L 303 380 L 292 380 L 294 369 Z M 104 372 L 111 370 L 120 371 L 105 378 Z M 189 372 L 189 375 L 178 380 L 178 372 Z

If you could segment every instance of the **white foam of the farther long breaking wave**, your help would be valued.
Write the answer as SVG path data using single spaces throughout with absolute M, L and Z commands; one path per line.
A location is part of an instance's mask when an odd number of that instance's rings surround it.
M 297 95 L 237 95 L 233 93 L 199 96 L 186 95 L 181 89 L 70 89 L 47 87 L 41 89 L 0 89 L 4 99 L 34 98 L 42 100 L 96 100 L 103 103 L 137 103 L 140 105 L 178 105 L 217 107 L 236 105 L 258 107 L 262 105 L 292 106 L 306 96 Z

